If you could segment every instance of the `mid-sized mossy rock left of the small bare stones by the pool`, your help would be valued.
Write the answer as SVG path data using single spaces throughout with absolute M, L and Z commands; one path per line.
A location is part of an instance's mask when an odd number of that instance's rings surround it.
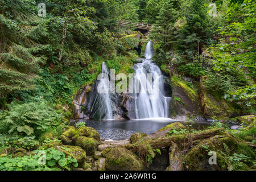
M 96 139 L 84 136 L 73 137 L 72 142 L 75 146 L 82 147 L 86 151 L 87 155 L 94 155 L 97 150 L 97 146 L 100 144 Z

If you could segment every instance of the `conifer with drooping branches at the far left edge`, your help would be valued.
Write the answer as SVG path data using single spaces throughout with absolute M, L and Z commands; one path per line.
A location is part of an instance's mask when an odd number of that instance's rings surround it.
M 47 19 L 35 13 L 35 1 L 0 1 L 0 97 L 34 88 L 33 79 L 46 59 Z M 2 103 L 2 102 L 1 102 Z

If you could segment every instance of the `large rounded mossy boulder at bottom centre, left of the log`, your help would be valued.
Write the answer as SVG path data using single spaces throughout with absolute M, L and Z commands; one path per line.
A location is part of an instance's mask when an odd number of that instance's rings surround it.
M 108 147 L 102 155 L 106 157 L 107 171 L 141 171 L 143 168 L 141 159 L 123 146 Z

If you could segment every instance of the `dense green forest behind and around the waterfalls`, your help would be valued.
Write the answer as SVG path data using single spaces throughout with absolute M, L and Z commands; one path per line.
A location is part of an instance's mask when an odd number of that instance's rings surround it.
M 46 16 L 39 3 L 45 3 Z M 216 15 L 209 7 L 216 5 Z M 207 92 L 255 114 L 256 3 L 251 0 L 0 0 L 0 142 L 32 148 L 60 135 L 72 101 L 102 61 L 133 73 L 154 42 L 165 75 L 204 82 Z M 152 24 L 147 36 L 120 20 Z M 6 139 L 6 136 L 10 138 Z

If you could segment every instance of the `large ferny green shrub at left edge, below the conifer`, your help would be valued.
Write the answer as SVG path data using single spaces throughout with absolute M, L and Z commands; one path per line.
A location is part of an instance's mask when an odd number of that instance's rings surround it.
M 3 133 L 38 135 L 46 131 L 50 122 L 56 121 L 58 117 L 55 110 L 44 102 L 25 104 L 11 102 L 8 106 L 9 110 L 6 110 L 0 119 L 0 131 Z

